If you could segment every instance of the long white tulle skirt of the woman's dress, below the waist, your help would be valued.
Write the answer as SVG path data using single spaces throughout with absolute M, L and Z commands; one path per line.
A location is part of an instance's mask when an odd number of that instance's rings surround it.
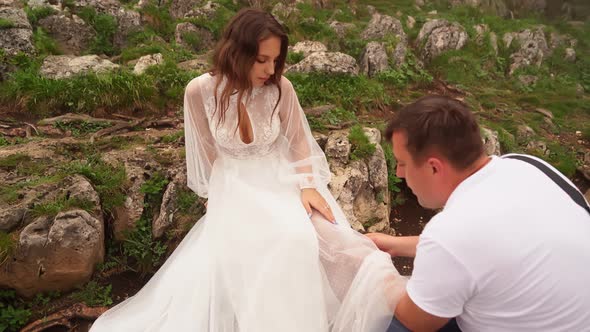
M 218 159 L 207 214 L 91 331 L 385 331 L 405 279 L 326 188 L 339 224 L 310 220 L 299 189 L 278 181 L 280 164 Z

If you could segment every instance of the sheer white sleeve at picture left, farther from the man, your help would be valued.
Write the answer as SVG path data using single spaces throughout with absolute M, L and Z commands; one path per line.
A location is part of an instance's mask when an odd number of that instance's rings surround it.
M 205 77 L 197 77 L 187 85 L 184 93 L 187 185 L 204 198 L 207 198 L 209 177 L 217 157 L 203 103 L 202 85 L 206 83 Z

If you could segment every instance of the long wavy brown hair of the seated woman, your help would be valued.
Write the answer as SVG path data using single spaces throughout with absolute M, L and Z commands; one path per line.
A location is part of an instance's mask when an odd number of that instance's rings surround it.
M 281 52 L 276 59 L 275 72 L 266 82 L 266 84 L 275 84 L 279 89 L 279 98 L 273 110 L 274 114 L 281 99 L 279 82 L 285 68 L 289 45 L 285 29 L 271 14 L 254 8 L 240 10 L 225 27 L 223 36 L 215 47 L 213 69 L 210 71 L 213 76 L 219 75 L 215 85 L 215 112 L 220 112 L 218 125 L 225 121 L 225 113 L 229 108 L 231 95 L 237 93 L 239 103 L 244 93 L 250 95 L 252 92 L 250 70 L 258 55 L 258 43 L 272 36 L 281 40 Z M 223 78 L 225 78 L 226 84 L 221 91 L 221 96 L 218 96 L 218 88 Z M 240 117 L 238 117 L 239 126 Z

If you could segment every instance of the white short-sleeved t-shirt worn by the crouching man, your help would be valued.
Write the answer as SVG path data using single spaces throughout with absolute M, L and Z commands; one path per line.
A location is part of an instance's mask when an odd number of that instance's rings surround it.
M 590 215 L 536 167 L 492 157 L 422 232 L 407 291 L 463 331 L 590 331 L 589 264 Z

